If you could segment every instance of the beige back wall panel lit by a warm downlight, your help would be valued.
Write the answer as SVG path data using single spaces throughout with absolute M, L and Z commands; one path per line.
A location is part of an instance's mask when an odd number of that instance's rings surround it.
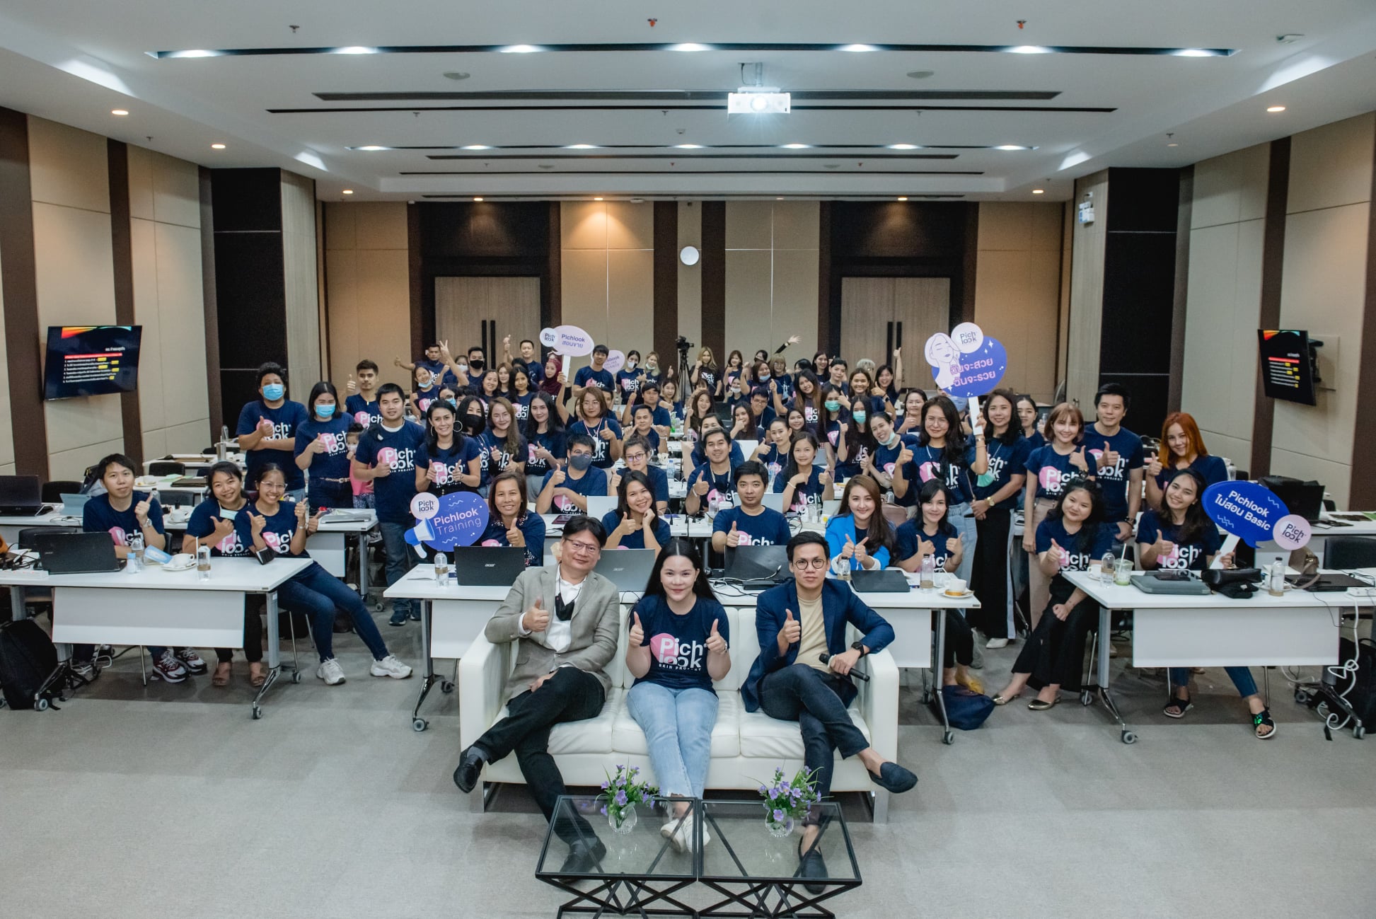
M 654 205 L 566 201 L 559 215 L 563 322 L 608 348 L 644 355 L 654 348 Z M 586 365 L 575 358 L 570 370 Z

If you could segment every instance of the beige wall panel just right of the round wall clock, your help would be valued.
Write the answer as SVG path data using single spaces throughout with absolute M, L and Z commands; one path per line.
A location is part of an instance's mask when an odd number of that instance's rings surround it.
M 790 363 L 816 351 L 819 230 L 815 201 L 727 202 L 727 354 L 773 352 L 793 334 Z

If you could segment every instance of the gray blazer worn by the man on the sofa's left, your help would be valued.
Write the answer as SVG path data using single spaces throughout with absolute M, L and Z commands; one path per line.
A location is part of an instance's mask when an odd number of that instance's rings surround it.
M 557 563 L 546 568 L 527 568 L 516 578 L 510 593 L 487 620 L 484 634 L 493 644 L 516 641 L 516 666 L 506 681 L 506 696 L 526 692 L 530 684 L 561 664 L 571 664 L 597 677 L 603 692 L 611 688 L 611 677 L 604 667 L 616 655 L 616 633 L 621 629 L 621 592 L 611 581 L 589 572 L 583 589 L 574 604 L 572 641 L 568 651 L 559 653 L 544 644 L 545 633 L 520 634 L 520 618 L 541 597 L 541 608 L 555 619 L 555 579 Z

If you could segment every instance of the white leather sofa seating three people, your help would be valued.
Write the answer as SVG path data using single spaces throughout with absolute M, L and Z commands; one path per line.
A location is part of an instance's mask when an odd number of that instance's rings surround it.
M 557 725 L 549 737 L 549 751 L 568 786 L 600 786 L 616 765 L 640 766 L 654 780 L 654 768 L 645 747 L 645 735 L 626 709 L 626 692 L 634 677 L 626 670 L 625 638 L 629 607 L 622 607 L 621 642 L 608 664 L 612 688 L 601 714 L 586 721 Z M 711 736 L 711 768 L 707 788 L 754 790 L 773 777 L 776 768 L 793 773 L 802 766 L 802 733 L 794 721 L 776 721 L 764 711 L 747 713 L 740 699 L 740 684 L 760 653 L 755 640 L 755 608 L 727 607 L 731 625 L 731 673 L 716 684 L 720 706 Z M 857 634 L 850 636 L 853 641 Z M 510 675 L 515 644 L 493 645 L 477 636 L 458 663 L 460 748 L 476 742 L 484 731 L 506 713 L 502 688 Z M 861 664 L 870 681 L 856 681 L 859 696 L 850 706 L 850 718 L 870 744 L 885 758 L 899 753 L 899 667 L 888 651 L 870 655 Z M 486 803 L 486 783 L 524 783 L 516 757 L 487 764 L 482 786 L 475 788 L 473 808 Z M 837 757 L 831 780 L 832 791 L 861 791 L 872 795 L 874 819 L 888 820 L 888 792 L 870 781 L 870 775 L 854 757 Z

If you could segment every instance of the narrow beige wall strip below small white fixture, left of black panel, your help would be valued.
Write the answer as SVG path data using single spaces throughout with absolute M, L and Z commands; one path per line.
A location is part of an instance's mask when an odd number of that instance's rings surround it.
M 1071 260 L 1071 315 L 1066 336 L 1066 398 L 1079 400 L 1080 409 L 1093 413 L 1094 392 L 1099 388 L 1099 347 L 1104 325 L 1104 245 L 1108 241 L 1109 173 L 1108 169 L 1077 179 L 1075 201 L 1093 191 L 1094 223 L 1075 223 Z M 1073 219 L 1072 212 L 1072 219 Z M 976 289 L 978 290 L 978 289 Z

